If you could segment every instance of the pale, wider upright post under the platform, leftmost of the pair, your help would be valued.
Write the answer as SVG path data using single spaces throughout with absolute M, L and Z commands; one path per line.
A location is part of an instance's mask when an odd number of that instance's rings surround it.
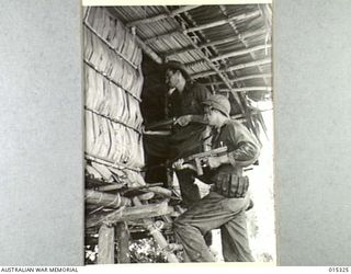
M 98 264 L 114 263 L 114 228 L 103 224 L 99 229 Z

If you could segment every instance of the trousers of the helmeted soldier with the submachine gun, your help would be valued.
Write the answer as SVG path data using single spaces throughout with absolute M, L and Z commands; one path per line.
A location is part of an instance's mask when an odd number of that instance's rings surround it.
M 226 198 L 215 192 L 191 206 L 174 221 L 174 233 L 191 262 L 215 262 L 204 235 L 220 228 L 226 262 L 253 262 L 249 248 L 246 208 L 249 198 Z

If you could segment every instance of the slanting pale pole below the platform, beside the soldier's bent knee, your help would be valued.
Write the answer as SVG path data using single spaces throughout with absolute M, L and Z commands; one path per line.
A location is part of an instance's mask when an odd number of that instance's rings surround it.
M 133 203 L 136 206 L 141 206 L 141 202 L 137 197 L 133 198 Z M 150 235 L 154 237 L 155 241 L 161 248 L 162 253 L 167 256 L 168 262 L 179 263 L 177 256 L 173 254 L 173 252 L 170 251 L 169 243 L 165 239 L 163 235 L 159 231 L 155 222 L 149 218 L 144 218 L 143 222 L 145 227 L 150 231 Z

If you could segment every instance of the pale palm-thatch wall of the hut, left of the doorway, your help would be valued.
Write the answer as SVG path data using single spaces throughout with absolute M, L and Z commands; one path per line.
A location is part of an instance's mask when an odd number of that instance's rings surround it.
M 141 49 L 104 8 L 87 10 L 83 37 L 87 173 L 106 182 L 128 178 L 140 184 L 138 171 L 145 164 Z

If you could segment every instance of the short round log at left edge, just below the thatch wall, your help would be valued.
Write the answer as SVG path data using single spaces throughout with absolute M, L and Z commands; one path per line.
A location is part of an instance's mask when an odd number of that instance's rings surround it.
M 110 194 L 91 190 L 86 190 L 86 202 L 88 204 L 111 208 L 118 208 L 121 206 L 131 205 L 131 199 L 121 197 L 118 193 Z

